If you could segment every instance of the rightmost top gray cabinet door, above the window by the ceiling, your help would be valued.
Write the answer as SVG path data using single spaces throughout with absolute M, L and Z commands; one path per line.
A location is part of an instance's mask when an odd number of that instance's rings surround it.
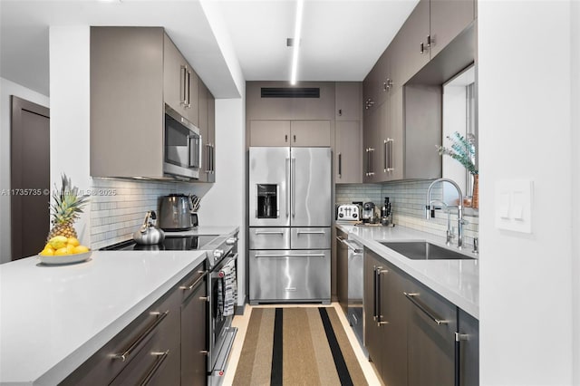
M 430 0 L 430 58 L 440 53 L 474 18 L 474 0 Z

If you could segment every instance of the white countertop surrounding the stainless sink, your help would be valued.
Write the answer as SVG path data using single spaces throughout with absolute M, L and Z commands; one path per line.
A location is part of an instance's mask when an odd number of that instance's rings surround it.
M 425 240 L 445 246 L 445 238 L 407 227 L 354 227 L 337 224 L 349 239 L 358 241 L 392 265 L 427 285 L 463 311 L 479 318 L 479 261 L 475 260 L 411 260 L 383 246 L 378 241 Z M 377 241 L 378 240 L 378 241 Z M 457 250 L 450 246 L 449 249 Z M 477 257 L 464 250 L 462 253 Z

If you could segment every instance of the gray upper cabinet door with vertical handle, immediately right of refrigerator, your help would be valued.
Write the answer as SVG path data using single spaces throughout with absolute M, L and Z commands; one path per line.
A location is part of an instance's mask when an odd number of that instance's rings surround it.
M 360 121 L 336 121 L 334 181 L 362 182 L 362 132 Z

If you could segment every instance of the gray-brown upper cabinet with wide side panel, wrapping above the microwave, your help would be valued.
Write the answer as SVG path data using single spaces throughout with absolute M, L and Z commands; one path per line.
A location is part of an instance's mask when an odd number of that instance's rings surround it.
M 197 126 L 198 76 L 163 28 L 91 27 L 90 82 L 91 176 L 164 178 L 164 103 Z

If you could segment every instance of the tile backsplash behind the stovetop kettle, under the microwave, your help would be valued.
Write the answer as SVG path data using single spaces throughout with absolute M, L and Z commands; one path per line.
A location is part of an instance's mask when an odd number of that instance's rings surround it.
M 99 249 L 130 239 L 148 210 L 159 210 L 159 198 L 191 193 L 185 183 L 125 179 L 92 179 L 91 247 Z

